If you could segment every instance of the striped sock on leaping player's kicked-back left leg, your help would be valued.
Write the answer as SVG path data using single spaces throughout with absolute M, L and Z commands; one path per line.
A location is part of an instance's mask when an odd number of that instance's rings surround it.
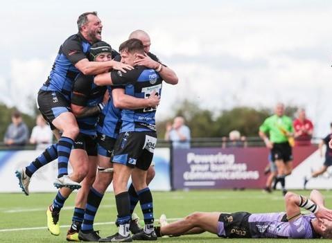
M 58 158 L 58 145 L 52 144 L 51 146 L 47 147 L 40 156 L 38 156 L 30 165 L 26 166 L 26 175 L 28 177 L 32 177 L 33 173 L 35 173 L 39 168 L 42 166 L 52 162 L 53 160 Z

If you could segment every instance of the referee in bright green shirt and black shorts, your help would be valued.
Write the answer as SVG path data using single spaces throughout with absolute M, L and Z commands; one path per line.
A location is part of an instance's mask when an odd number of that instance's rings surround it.
M 292 147 L 288 138 L 292 137 L 293 127 L 292 120 L 283 114 L 284 110 L 283 104 L 278 103 L 274 115 L 266 118 L 259 127 L 259 136 L 271 150 L 272 161 L 277 166 L 275 183 L 281 183 L 283 195 L 286 195 L 285 177 L 292 172 Z

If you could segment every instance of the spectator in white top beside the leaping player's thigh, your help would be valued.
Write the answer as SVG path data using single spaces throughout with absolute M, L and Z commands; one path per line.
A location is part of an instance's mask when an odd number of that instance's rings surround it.
M 46 125 L 42 115 L 38 115 L 36 118 L 36 126 L 33 127 L 31 132 L 30 143 L 36 144 L 36 150 L 45 150 L 46 147 L 52 144 L 53 132 L 51 128 Z

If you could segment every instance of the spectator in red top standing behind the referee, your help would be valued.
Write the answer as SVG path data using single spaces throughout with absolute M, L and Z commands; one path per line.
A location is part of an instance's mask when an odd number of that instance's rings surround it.
M 306 118 L 306 110 L 299 109 L 297 118 L 293 122 L 295 129 L 295 146 L 311 145 L 311 137 L 313 136 L 313 123 Z

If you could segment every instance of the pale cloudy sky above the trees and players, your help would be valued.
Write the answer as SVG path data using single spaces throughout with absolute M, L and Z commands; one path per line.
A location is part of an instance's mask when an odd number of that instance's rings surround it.
M 10 3 L 9 3 L 10 2 Z M 165 85 L 157 116 L 189 98 L 211 110 L 236 105 L 307 109 L 315 135 L 329 132 L 332 111 L 332 1 L 6 1 L 0 39 L 0 101 L 28 111 L 60 44 L 96 10 L 114 48 L 135 29 L 180 83 Z

